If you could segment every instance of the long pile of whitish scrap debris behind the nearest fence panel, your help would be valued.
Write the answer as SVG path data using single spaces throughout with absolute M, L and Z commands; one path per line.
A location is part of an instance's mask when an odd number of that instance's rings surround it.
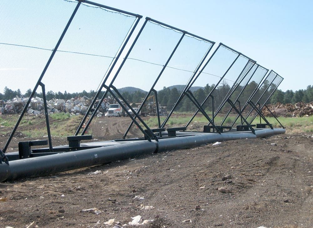
M 0 100 L 0 114 L 13 114 L 21 113 L 25 104 L 27 103 L 28 98 L 14 98 L 12 100 L 4 101 Z M 100 100 L 97 100 L 94 104 L 94 108 L 99 103 Z M 83 97 L 75 97 L 69 100 L 64 99 L 51 99 L 47 101 L 48 113 L 70 113 L 70 114 L 85 114 L 91 99 Z M 105 99 L 97 112 L 105 113 L 110 105 L 110 99 Z M 28 114 L 44 114 L 44 100 L 39 97 L 32 98 L 27 109 Z

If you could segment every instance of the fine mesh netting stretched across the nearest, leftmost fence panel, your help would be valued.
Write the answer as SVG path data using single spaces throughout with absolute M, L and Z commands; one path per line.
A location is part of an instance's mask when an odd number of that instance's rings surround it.
M 22 97 L 10 99 L 14 113 L 18 114 L 78 3 L 53 0 L 0 4 L 4 6 L 1 17 L 5 22 L 0 48 L 2 56 L 8 59 L 1 61 L 1 69 L 6 70 L 0 73 L 10 79 L 0 86 L 20 90 Z M 80 4 L 41 80 L 45 85 L 52 142 L 74 134 L 135 20 L 136 17 L 124 13 Z M 14 125 L 17 118 L 14 115 L 8 125 Z M 30 131 L 30 125 L 37 130 Z M 9 130 L 12 128 L 6 134 Z M 47 137 L 41 86 L 14 136 L 24 140 Z

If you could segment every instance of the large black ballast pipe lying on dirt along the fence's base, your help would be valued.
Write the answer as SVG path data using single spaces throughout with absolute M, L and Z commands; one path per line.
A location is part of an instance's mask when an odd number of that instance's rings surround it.
M 65 152 L 54 155 L 32 157 L 9 162 L 9 166 L 0 164 L 0 181 L 13 181 L 22 178 L 46 176 L 58 172 L 101 165 L 118 160 L 124 160 L 135 156 L 152 154 L 184 148 L 200 146 L 206 143 L 225 140 L 254 139 L 275 134 L 284 134 L 285 129 L 263 129 L 251 132 L 232 133 L 195 133 L 191 136 L 178 136 L 174 138 L 159 139 L 159 141 L 123 141 L 121 144 L 102 146 L 98 148 Z M 179 134 L 191 134 L 191 132 L 177 132 Z M 108 142 L 103 142 L 107 144 Z M 86 143 L 86 145 L 93 143 Z M 101 142 L 97 142 L 101 144 Z

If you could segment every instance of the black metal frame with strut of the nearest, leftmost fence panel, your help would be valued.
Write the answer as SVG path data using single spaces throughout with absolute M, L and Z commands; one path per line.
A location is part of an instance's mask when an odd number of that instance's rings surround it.
M 116 11 L 116 12 L 119 12 L 119 13 L 128 14 L 128 15 L 131 15 L 131 16 L 134 16 L 134 17 L 137 18 L 137 21 L 135 22 L 135 24 L 133 24 L 133 28 L 132 28 L 131 32 L 129 32 L 128 37 L 127 37 L 127 39 L 126 39 L 125 42 L 124 42 L 124 45 L 120 48 L 120 53 L 118 54 L 118 56 L 116 56 L 116 59 L 115 59 L 115 62 L 113 63 L 113 65 L 115 65 L 115 63 L 116 63 L 118 57 L 120 57 L 121 52 L 122 52 L 122 50 L 125 48 L 127 41 L 129 40 L 131 34 L 132 34 L 133 31 L 135 30 L 136 25 L 138 24 L 139 20 L 142 18 L 142 16 L 139 15 L 139 14 L 130 13 L 130 12 L 127 12 L 127 11 L 123 11 L 123 10 L 120 10 L 120 9 L 108 7 L 108 6 L 105 6 L 105 5 L 102 5 L 102 4 L 98 4 L 98 3 L 94 3 L 94 2 L 90 2 L 90 1 L 87 1 L 87 0 L 77 0 L 77 5 L 76 5 L 76 7 L 74 8 L 74 11 L 73 11 L 73 13 L 72 13 L 71 16 L 70 16 L 69 21 L 67 22 L 67 24 L 66 24 L 66 26 L 65 26 L 65 28 L 64 28 L 64 30 L 63 30 L 63 32 L 62 32 L 62 34 L 61 34 L 60 37 L 59 37 L 58 42 L 56 43 L 54 49 L 52 50 L 52 53 L 51 53 L 51 55 L 50 55 L 50 57 L 49 57 L 49 59 L 48 59 L 46 65 L 45 65 L 45 67 L 44 67 L 44 69 L 43 69 L 43 71 L 42 71 L 40 77 L 38 78 L 38 81 L 37 81 L 37 83 L 36 83 L 36 85 L 35 85 L 35 87 L 34 87 L 32 93 L 30 94 L 30 96 L 29 96 L 29 98 L 28 98 L 28 101 L 26 102 L 26 104 L 25 104 L 25 106 L 24 106 L 24 108 L 23 108 L 23 111 L 22 111 L 22 113 L 20 114 L 20 116 L 19 116 L 19 118 L 18 118 L 18 120 L 17 120 L 17 122 L 16 122 L 16 124 L 15 124 L 15 126 L 14 126 L 14 128 L 13 128 L 13 130 L 12 130 L 10 136 L 9 136 L 9 138 L 8 138 L 8 141 L 6 142 L 5 146 L 3 147 L 3 152 L 4 152 L 4 153 L 5 153 L 5 151 L 7 150 L 8 145 L 10 144 L 10 142 L 11 142 L 11 140 L 12 140 L 12 138 L 13 138 L 13 135 L 15 134 L 15 132 L 16 132 L 16 130 L 17 130 L 17 128 L 18 128 L 18 125 L 20 124 L 20 122 L 21 122 L 21 120 L 22 120 L 24 114 L 26 113 L 27 108 L 28 108 L 28 105 L 30 104 L 31 99 L 32 99 L 33 96 L 35 95 L 38 86 L 41 86 L 41 87 L 42 87 L 42 90 L 43 90 L 44 105 L 45 105 L 45 117 L 46 117 L 46 122 L 47 122 L 47 131 L 48 131 L 48 139 L 49 139 L 49 149 L 50 149 L 50 151 L 53 150 L 53 149 L 52 149 L 52 143 L 51 143 L 50 127 L 49 127 L 49 117 L 48 117 L 48 111 L 47 111 L 47 107 L 46 107 L 46 106 L 47 106 L 47 103 L 46 103 L 46 98 L 45 98 L 45 93 L 44 93 L 44 84 L 41 82 L 41 80 L 43 79 L 44 74 L 46 73 L 46 71 L 47 71 L 47 69 L 48 69 L 48 67 L 49 67 L 49 65 L 50 65 L 50 63 L 51 63 L 51 61 L 52 61 L 52 59 L 53 59 L 55 53 L 57 52 L 57 50 L 58 50 L 58 48 L 59 48 L 59 45 L 61 44 L 61 42 L 62 42 L 62 40 L 63 40 L 63 38 L 64 38 L 64 35 L 66 34 L 66 32 L 67 32 L 67 30 L 68 30 L 68 28 L 69 28 L 69 26 L 70 26 L 72 20 L 74 19 L 74 16 L 75 16 L 76 12 L 78 11 L 78 9 L 79 9 L 81 3 L 83 3 L 83 2 L 84 2 L 84 3 L 87 3 L 87 4 L 90 4 L 90 5 L 98 6 L 98 7 L 101 7 L 101 8 L 106 8 L 106 9 L 109 9 L 109 10 L 113 10 L 113 11 Z M 110 71 L 112 71 L 112 68 L 113 68 L 113 67 L 111 67 Z

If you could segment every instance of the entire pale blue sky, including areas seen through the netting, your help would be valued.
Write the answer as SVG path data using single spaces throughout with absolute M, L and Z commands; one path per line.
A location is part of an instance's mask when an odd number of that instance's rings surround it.
M 148 16 L 215 41 L 211 53 L 222 42 L 284 77 L 285 80 L 279 87 L 283 91 L 305 89 L 307 85 L 313 85 L 310 69 L 313 63 L 313 1 L 94 1 L 138 13 L 144 18 Z M 61 0 L 3 0 L 2 3 L 0 41 L 46 49 L 0 45 L 0 91 L 8 86 L 13 90 L 20 88 L 24 93 L 28 88 L 34 87 L 76 3 Z M 46 91 L 96 90 L 114 53 L 135 20 L 123 17 L 95 8 L 80 7 L 59 50 L 108 57 L 57 52 L 43 79 Z M 139 22 L 136 31 L 145 21 L 144 18 Z M 132 60 L 127 60 L 120 77 L 115 81 L 117 88 L 134 86 L 148 90 L 153 81 L 149 79 L 148 84 L 143 80 L 148 80 L 148 76 L 156 78 L 181 36 L 157 27 L 149 32 L 147 27 L 134 47 L 136 51 L 129 57 L 149 60 L 159 65 L 145 66 L 138 62 L 139 65 L 136 66 Z M 183 39 L 169 66 L 189 71 L 195 69 L 209 45 L 188 39 Z M 150 41 L 154 42 L 153 45 Z M 184 53 L 189 55 L 185 56 Z M 228 57 L 231 57 L 231 53 Z M 220 67 L 221 76 L 221 70 L 225 67 L 221 64 L 215 65 Z M 210 70 L 217 72 L 214 68 Z M 173 69 L 167 69 L 156 89 L 186 84 L 191 75 L 185 71 L 177 74 L 176 78 L 174 76 Z M 134 80 L 136 77 L 140 80 Z M 69 78 L 71 80 L 67 80 Z M 204 78 L 198 86 L 206 83 L 215 82 Z

